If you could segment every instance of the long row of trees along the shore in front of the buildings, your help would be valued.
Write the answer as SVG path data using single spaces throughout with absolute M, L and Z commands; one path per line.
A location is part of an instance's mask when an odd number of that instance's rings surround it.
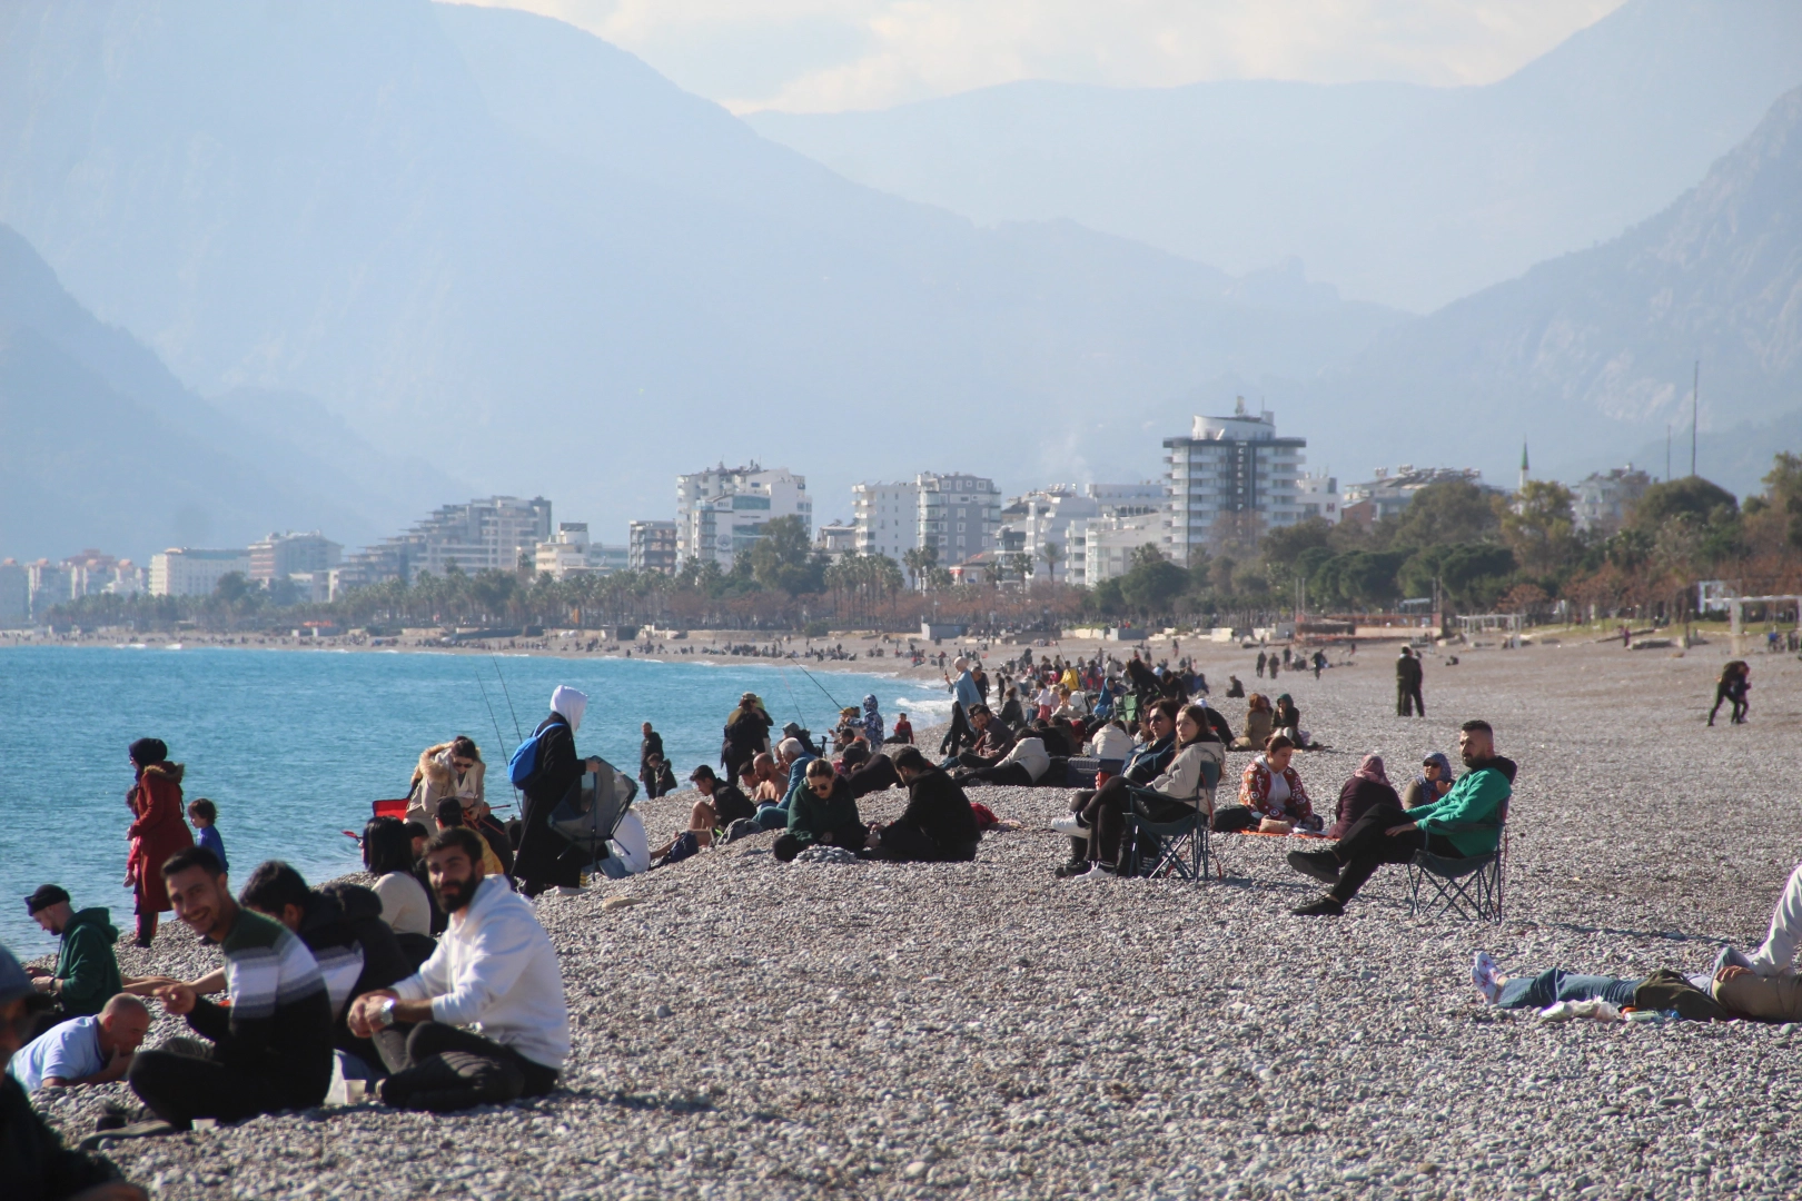
M 732 569 L 690 562 L 678 574 L 517 571 L 420 573 L 359 589 L 330 605 L 296 603 L 283 585 L 227 576 L 205 598 L 90 596 L 52 619 L 139 628 L 200 621 L 214 628 L 341 625 L 690 625 L 912 628 L 926 614 L 975 625 L 1065 625 L 1078 619 L 1179 619 L 1234 625 L 1303 603 L 1310 612 L 1384 610 L 1433 598 L 1445 609 L 1544 614 L 1681 607 L 1697 578 L 1741 591 L 1802 585 L 1802 457 L 1779 454 L 1764 493 L 1739 506 L 1699 479 L 1654 484 L 1611 535 L 1580 533 L 1573 495 L 1532 481 L 1514 497 L 1463 481 L 1422 488 L 1398 517 L 1370 528 L 1310 519 L 1261 533 L 1224 528 L 1211 551 L 1173 564 L 1141 547 L 1132 569 L 1094 589 L 1042 582 L 1016 562 L 1013 582 L 955 585 L 932 551 L 829 560 L 800 519 L 769 522 Z M 1024 556 L 1020 556 L 1024 558 Z M 1056 564 L 1058 553 L 1047 560 Z M 1004 564 L 1006 573 L 1006 564 Z M 1045 573 L 1051 574 L 1051 573 Z

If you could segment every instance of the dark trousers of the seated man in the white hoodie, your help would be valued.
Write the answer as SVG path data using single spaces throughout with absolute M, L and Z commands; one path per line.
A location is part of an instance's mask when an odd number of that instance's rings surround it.
M 542 1097 L 557 1088 L 555 1068 L 461 1026 L 422 1021 L 404 1039 L 396 1034 L 377 1035 L 382 1062 L 393 1073 L 380 1086 L 389 1106 L 449 1113 Z

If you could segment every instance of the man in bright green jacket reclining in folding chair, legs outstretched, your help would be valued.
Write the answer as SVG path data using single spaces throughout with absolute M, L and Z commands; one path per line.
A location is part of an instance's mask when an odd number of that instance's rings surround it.
M 1488 722 L 1465 722 L 1458 754 L 1467 771 L 1452 790 L 1418 808 L 1377 805 L 1352 823 L 1330 850 L 1288 852 L 1288 866 L 1312 875 L 1332 889 L 1294 909 L 1297 917 L 1339 917 L 1346 902 L 1386 862 L 1407 862 L 1425 850 L 1447 859 L 1474 859 L 1501 843 L 1508 796 L 1514 792 L 1514 760 L 1496 754 L 1496 731 Z

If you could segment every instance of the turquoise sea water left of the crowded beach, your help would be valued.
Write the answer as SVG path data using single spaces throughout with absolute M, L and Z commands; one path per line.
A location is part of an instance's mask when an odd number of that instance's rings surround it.
M 717 765 L 721 726 L 744 691 L 759 693 L 778 726 L 800 715 L 816 733 L 836 717 L 822 686 L 843 704 L 876 693 L 888 722 L 899 708 L 926 726 L 948 708 L 919 681 L 813 677 L 818 684 L 793 666 L 712 657 L 0 650 L 0 942 L 20 956 L 54 949 L 22 900 L 52 880 L 77 908 L 108 906 L 128 931 L 132 895 L 121 880 L 133 738 L 168 742 L 169 758 L 187 767 L 186 798 L 218 805 L 234 877 L 287 859 L 321 880 L 359 866 L 341 830 L 360 830 L 371 799 L 405 796 L 420 749 L 434 742 L 472 736 L 488 762 L 488 803 L 503 810 L 512 799 L 506 756 L 517 731 L 532 733 L 548 713 L 557 684 L 589 695 L 577 735 L 582 754 L 636 774 L 638 727 L 649 720 L 679 778 L 696 763 Z

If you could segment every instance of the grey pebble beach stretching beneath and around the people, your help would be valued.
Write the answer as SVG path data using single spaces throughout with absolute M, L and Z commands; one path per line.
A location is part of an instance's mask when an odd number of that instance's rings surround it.
M 1227 670 L 1258 686 L 1249 655 L 1193 650 L 1238 727 L 1220 693 Z M 1710 729 L 1723 645 L 1434 654 L 1425 720 L 1395 717 L 1388 654 L 1279 679 L 1330 747 L 1297 769 L 1330 812 L 1362 753 L 1400 781 L 1490 720 L 1519 762 L 1501 924 L 1411 918 L 1398 868 L 1342 918 L 1290 917 L 1317 886 L 1285 839 L 1215 839 L 1225 879 L 1200 886 L 1056 880 L 1067 792 L 973 789 L 1024 828 L 971 864 L 784 866 L 766 835 L 541 898 L 575 1035 L 548 1098 L 323 1107 L 105 1154 L 157 1197 L 209 1199 L 1802 1190 L 1789 1026 L 1553 1025 L 1469 980 L 1479 947 L 1510 972 L 1625 976 L 1757 945 L 1802 855 L 1802 664 L 1753 655 L 1752 722 Z M 654 843 L 692 799 L 640 807 Z M 216 962 L 175 922 L 119 958 Z M 148 1044 L 178 1032 L 159 1016 Z M 103 1100 L 128 1095 L 40 1106 L 74 1140 Z

